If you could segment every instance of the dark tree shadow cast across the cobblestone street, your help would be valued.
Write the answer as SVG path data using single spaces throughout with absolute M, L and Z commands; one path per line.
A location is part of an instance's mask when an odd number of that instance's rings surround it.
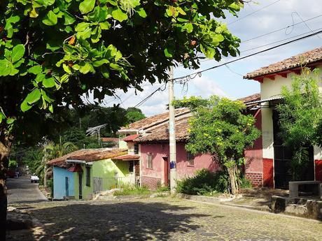
M 43 224 L 34 240 L 169 240 L 200 228 L 193 220 L 207 215 L 193 209 L 158 201 L 66 202 L 28 212 Z

